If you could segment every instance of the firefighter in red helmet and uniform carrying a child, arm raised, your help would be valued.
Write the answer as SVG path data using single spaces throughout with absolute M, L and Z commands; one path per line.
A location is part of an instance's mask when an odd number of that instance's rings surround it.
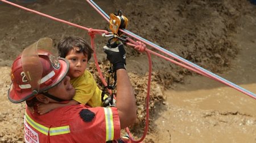
M 121 135 L 121 129 L 135 122 L 137 107 L 133 88 L 125 70 L 125 49 L 122 43 L 115 48 L 104 47 L 107 58 L 117 72 L 115 107 L 90 108 L 85 105 L 72 105 L 59 107 L 44 115 L 39 115 L 36 111 L 32 113 L 27 106 L 36 110 L 40 103 L 65 103 L 75 95 L 75 89 L 69 82 L 70 77 L 67 76 L 69 63 L 64 58 L 54 57 L 46 50 L 38 49 L 34 57 L 26 55 L 32 53 L 31 49 L 24 50 L 11 67 L 12 84 L 8 98 L 13 103 L 26 101 L 26 142 L 117 140 Z

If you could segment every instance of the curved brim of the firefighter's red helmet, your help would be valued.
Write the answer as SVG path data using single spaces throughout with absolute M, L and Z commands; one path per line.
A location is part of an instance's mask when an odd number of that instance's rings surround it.
M 64 77 L 67 75 L 68 69 L 69 69 L 68 60 L 64 59 L 64 58 L 58 58 L 58 59 L 60 62 L 60 69 L 59 69 L 59 73 L 58 73 L 57 77 L 54 80 L 52 80 L 52 84 L 50 86 L 48 86 L 47 88 L 44 88 L 44 89 L 40 89 L 39 93 L 42 93 L 42 92 L 52 88 L 53 86 L 59 84 L 60 81 L 62 81 L 64 79 Z M 13 103 L 20 103 L 20 102 L 26 101 L 27 99 L 30 99 L 35 96 L 34 94 L 31 93 L 31 89 L 23 90 L 22 92 L 20 92 L 19 90 L 15 90 L 13 88 L 13 84 L 10 85 L 7 95 L 8 95 L 8 99 Z

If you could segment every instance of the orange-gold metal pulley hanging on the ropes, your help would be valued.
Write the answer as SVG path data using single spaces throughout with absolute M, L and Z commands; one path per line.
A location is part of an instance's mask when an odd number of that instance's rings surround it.
M 119 29 L 125 29 L 128 19 L 122 15 L 122 11 L 118 10 L 117 14 L 110 14 L 110 30 L 117 36 L 121 36 L 123 32 Z

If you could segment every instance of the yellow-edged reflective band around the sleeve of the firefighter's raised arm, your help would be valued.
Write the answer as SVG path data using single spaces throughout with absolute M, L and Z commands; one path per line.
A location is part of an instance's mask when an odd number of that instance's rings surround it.
M 110 108 L 104 108 L 106 120 L 106 141 L 114 139 L 113 113 Z

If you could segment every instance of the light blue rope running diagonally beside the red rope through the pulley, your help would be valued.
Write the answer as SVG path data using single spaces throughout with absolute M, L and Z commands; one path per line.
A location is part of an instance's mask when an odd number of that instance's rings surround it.
M 99 6 L 97 6 L 96 3 L 94 3 L 92 0 L 86 0 L 86 1 L 88 3 L 90 3 L 90 5 L 93 5 L 94 8 L 97 8 L 96 10 L 99 13 L 101 12 L 100 14 L 102 16 L 106 17 L 106 13 Z M 106 20 L 109 22 L 109 19 L 106 19 Z M 216 75 L 216 74 L 214 74 L 214 73 L 212 73 L 212 72 L 210 72 L 208 70 L 205 70 L 204 68 L 202 68 L 200 66 L 197 66 L 197 64 L 189 62 L 189 60 L 186 60 L 186 59 L 184 59 L 182 57 L 179 57 L 178 55 L 176 55 L 174 53 L 171 53 L 171 51 L 168 51 L 168 50 L 164 49 L 163 47 L 160 47 L 160 46 L 158 46 L 158 45 L 156 45 L 156 44 L 154 44 L 154 43 L 152 43 L 152 42 L 150 42 L 150 41 L 148 41 L 148 40 L 138 36 L 137 34 L 134 34 L 134 33 L 130 32 L 130 31 L 127 31 L 126 29 L 119 29 L 119 30 L 121 32 L 123 32 L 123 33 L 128 34 L 131 37 L 136 38 L 137 40 L 145 42 L 145 44 L 147 44 L 147 45 L 149 45 L 151 47 L 154 47 L 156 50 L 162 51 L 162 53 L 167 54 L 170 57 L 175 58 L 175 59 L 179 60 L 180 62 L 183 62 L 183 63 L 187 64 L 188 66 L 191 66 L 191 67 L 195 68 L 196 70 L 198 70 L 200 72 L 205 73 L 206 75 L 209 75 L 209 77 L 212 77 L 213 79 L 216 79 L 217 81 L 220 81 L 221 83 L 224 83 L 224 84 L 226 84 L 226 85 L 228 85 L 228 86 L 230 86 L 230 87 L 232 87 L 232 88 L 234 88 L 234 89 L 236 89 L 236 90 L 246 94 L 247 96 L 250 96 L 250 97 L 256 99 L 256 94 L 250 92 L 249 90 L 246 90 L 246 89 L 242 88 L 241 86 L 238 86 L 238 85 L 236 85 L 236 84 L 234 84 L 234 83 L 224 79 L 223 77 L 220 77 L 220 76 L 218 76 L 218 75 Z

